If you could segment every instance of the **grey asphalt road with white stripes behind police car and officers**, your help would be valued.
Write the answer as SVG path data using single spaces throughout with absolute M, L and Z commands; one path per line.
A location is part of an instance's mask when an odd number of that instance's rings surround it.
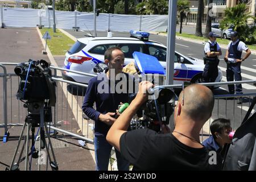
M 65 30 L 69 32 L 69 34 L 75 36 L 76 38 L 84 38 L 85 35 L 89 32 L 87 31 L 73 31 L 73 30 Z M 193 31 L 193 30 L 192 30 Z M 97 32 L 97 36 L 106 36 L 107 32 Z M 129 37 L 127 32 L 113 32 L 113 36 L 125 36 Z M 166 46 L 167 36 L 161 35 L 150 35 L 150 40 L 154 40 L 156 42 L 160 42 Z M 195 57 L 197 59 L 203 59 L 204 57 L 204 44 L 188 42 L 184 40 L 176 39 L 175 42 L 175 50 L 177 52 L 182 53 L 185 56 Z M 223 57 L 226 52 L 226 47 L 222 47 L 222 56 L 219 57 L 220 64 L 219 68 L 222 71 L 222 81 L 226 81 L 226 63 L 223 60 Z M 243 53 L 244 54 L 244 53 Z M 249 59 L 247 59 L 242 64 L 242 80 L 256 80 L 256 55 L 250 55 Z M 243 84 L 243 93 L 255 93 L 255 86 L 250 84 Z M 228 94 L 228 86 L 223 85 L 221 88 L 214 90 L 215 95 L 220 94 Z M 246 114 L 247 109 L 249 108 L 251 98 L 246 97 L 243 98 L 243 104 L 237 105 L 236 100 L 225 100 L 225 99 L 216 99 L 212 119 L 217 118 L 229 118 L 234 129 L 237 129 L 240 126 L 240 123 L 243 117 Z M 209 126 L 207 127 L 207 130 Z

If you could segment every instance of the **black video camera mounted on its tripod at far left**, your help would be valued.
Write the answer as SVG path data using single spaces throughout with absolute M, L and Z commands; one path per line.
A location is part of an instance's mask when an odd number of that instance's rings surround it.
M 24 121 L 23 129 L 19 137 L 18 146 L 16 147 L 13 159 L 11 161 L 10 168 L 6 170 L 14 171 L 19 170 L 19 163 L 25 159 L 25 170 L 27 171 L 28 155 L 32 155 L 33 158 L 38 158 L 38 152 L 35 151 L 35 127 L 39 127 L 40 130 L 40 146 L 39 146 L 39 159 L 41 159 L 41 149 L 46 148 L 47 160 L 49 158 L 49 164 L 52 170 L 58 170 L 55 154 L 47 128 L 47 122 L 52 122 L 51 107 L 56 104 L 55 86 L 56 82 L 51 78 L 51 69 L 49 63 L 45 60 L 28 60 L 28 63 L 20 63 L 14 68 L 14 72 L 21 78 L 19 82 L 18 92 L 16 97 L 18 100 L 24 102 L 24 107 L 27 108 L 28 114 Z M 25 127 L 27 126 L 27 137 L 24 140 L 22 150 L 20 151 L 19 159 L 17 163 L 14 163 L 16 155 L 19 150 L 20 142 L 23 138 Z M 30 146 L 30 129 L 32 133 L 32 147 L 31 152 L 28 154 L 28 148 Z M 48 145 L 46 143 L 45 132 L 48 137 Z M 26 146 L 25 158 L 21 159 L 24 148 Z M 52 152 L 52 158 L 49 154 L 49 149 Z M 44 157 L 44 156 L 43 156 Z M 32 160 L 32 158 L 31 158 Z M 46 159 L 45 159 L 46 160 Z M 38 162 L 38 170 L 40 170 L 41 161 Z M 31 162 L 30 162 L 31 169 Z

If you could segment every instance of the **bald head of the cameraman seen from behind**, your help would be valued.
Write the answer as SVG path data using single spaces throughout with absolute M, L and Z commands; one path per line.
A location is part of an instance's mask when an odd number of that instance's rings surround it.
M 182 103 L 183 92 L 179 101 Z M 212 114 L 214 96 L 212 91 L 204 85 L 192 84 L 184 89 L 183 114 L 195 121 L 207 121 Z

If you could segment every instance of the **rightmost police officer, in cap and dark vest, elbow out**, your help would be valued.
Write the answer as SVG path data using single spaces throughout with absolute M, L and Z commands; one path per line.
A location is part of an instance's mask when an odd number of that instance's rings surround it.
M 241 81 L 241 63 L 249 57 L 251 54 L 250 49 L 238 39 L 238 34 L 236 31 L 230 34 L 231 41 L 228 44 L 226 50 L 226 56 L 224 60 L 227 63 L 226 66 L 226 80 L 227 81 Z M 245 51 L 246 54 L 242 58 L 242 51 Z M 229 93 L 234 94 L 234 85 L 228 85 Z M 242 94 L 242 85 L 236 84 L 236 93 Z M 238 97 L 237 104 L 242 103 L 242 97 Z

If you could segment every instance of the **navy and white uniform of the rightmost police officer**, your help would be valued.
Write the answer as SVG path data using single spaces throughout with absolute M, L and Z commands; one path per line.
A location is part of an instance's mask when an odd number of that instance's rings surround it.
M 236 59 L 241 59 L 242 51 L 246 51 L 248 47 L 237 39 L 236 42 L 230 41 L 228 44 L 228 61 L 226 66 L 226 80 L 227 81 L 241 81 L 241 62 L 236 62 Z M 234 85 L 228 85 L 229 93 L 234 94 Z M 242 85 L 236 84 L 236 93 L 242 94 Z

